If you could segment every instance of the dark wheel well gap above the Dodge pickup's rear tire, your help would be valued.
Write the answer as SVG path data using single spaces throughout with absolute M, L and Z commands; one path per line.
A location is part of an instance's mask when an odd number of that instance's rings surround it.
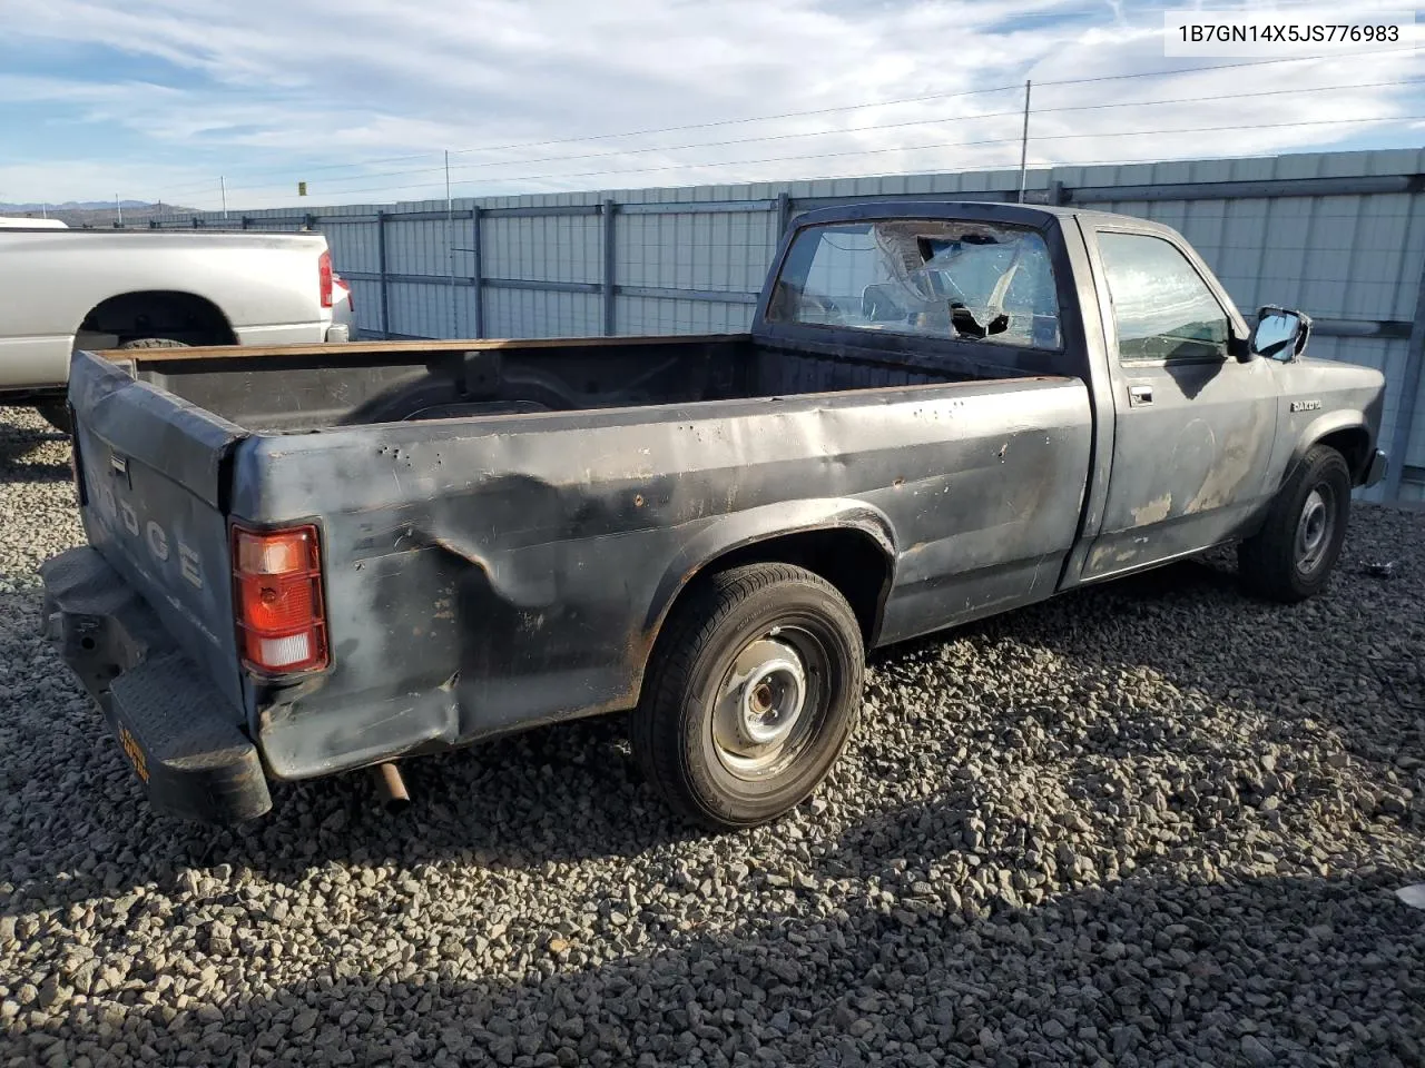
M 869 534 L 851 527 L 778 534 L 714 557 L 698 575 L 742 564 L 795 564 L 821 575 L 841 591 L 856 614 L 866 649 L 875 644 L 891 588 L 891 558 Z

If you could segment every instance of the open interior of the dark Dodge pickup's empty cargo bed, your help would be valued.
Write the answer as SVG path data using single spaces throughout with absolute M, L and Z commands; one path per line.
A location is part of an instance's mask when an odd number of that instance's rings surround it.
M 110 353 L 114 356 L 114 353 Z M 1015 377 L 1013 363 L 804 352 L 750 335 L 168 349 L 131 373 L 258 433 Z M 1010 355 L 1012 356 L 1012 355 Z

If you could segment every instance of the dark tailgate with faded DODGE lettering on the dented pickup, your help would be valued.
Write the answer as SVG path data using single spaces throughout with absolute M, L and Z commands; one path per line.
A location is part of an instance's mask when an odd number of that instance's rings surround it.
M 241 715 L 225 481 L 247 431 L 93 353 L 70 404 L 90 544 Z

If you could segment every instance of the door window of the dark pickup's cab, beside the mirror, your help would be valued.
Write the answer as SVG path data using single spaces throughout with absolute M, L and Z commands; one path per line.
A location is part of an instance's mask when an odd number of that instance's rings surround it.
M 1173 245 L 1143 234 L 1099 234 L 1119 359 L 1226 356 L 1227 313 Z

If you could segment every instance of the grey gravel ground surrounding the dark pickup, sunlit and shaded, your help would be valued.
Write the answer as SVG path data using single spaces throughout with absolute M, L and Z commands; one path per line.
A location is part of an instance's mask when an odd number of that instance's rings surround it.
M 67 478 L 0 412 L 0 1064 L 1425 1062 L 1425 515 L 1298 608 L 1213 560 L 882 654 L 774 827 L 594 722 L 214 832 L 36 637 Z

